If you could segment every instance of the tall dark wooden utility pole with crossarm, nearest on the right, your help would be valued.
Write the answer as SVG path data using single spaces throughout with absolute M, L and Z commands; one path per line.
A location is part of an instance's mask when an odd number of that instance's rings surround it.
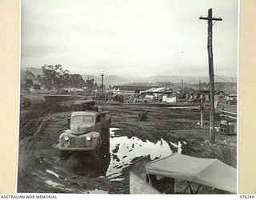
M 200 17 L 199 19 L 208 22 L 208 62 L 209 62 L 209 77 L 210 77 L 210 142 L 215 142 L 214 134 L 214 58 L 213 58 L 213 21 L 222 21 L 222 18 L 213 18 L 212 9 L 208 10 L 208 17 Z

